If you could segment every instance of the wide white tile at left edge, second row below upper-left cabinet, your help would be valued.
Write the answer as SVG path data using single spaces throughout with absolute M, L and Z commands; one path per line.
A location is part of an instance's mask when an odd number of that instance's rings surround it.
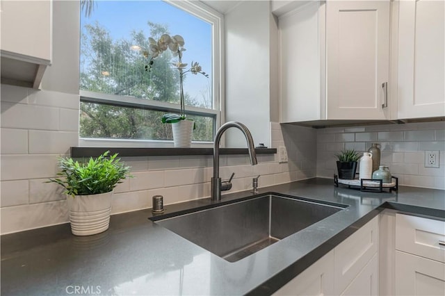
M 58 108 L 11 104 L 1 101 L 1 127 L 56 131 L 58 125 Z

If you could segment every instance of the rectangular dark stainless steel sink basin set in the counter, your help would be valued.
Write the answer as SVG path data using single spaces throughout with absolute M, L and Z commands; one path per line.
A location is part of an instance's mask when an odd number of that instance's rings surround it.
M 343 208 L 346 206 L 274 194 L 156 223 L 229 262 L 235 262 Z

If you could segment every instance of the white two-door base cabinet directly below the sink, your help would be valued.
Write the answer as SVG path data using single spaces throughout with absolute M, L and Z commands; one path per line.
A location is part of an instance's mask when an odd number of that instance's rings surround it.
M 378 217 L 274 295 L 378 295 Z

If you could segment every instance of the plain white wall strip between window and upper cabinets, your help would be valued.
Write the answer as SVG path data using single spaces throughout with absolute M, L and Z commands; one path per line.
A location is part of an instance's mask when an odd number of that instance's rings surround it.
M 270 145 L 270 3 L 243 1 L 225 15 L 225 116 L 243 122 L 254 142 Z M 233 129 L 234 130 L 234 129 Z M 227 131 L 226 147 L 245 147 Z

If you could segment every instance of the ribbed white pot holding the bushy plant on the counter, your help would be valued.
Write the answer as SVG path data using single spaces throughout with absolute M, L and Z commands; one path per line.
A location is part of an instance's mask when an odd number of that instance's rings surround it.
M 74 236 L 91 236 L 108 229 L 113 191 L 99 195 L 68 195 L 67 202 Z

